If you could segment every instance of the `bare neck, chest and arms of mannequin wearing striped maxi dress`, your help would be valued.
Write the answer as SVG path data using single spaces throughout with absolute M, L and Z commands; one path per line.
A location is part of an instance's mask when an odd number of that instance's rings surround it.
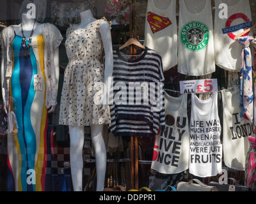
M 24 36 L 28 39 L 29 35 L 31 33 L 31 30 L 33 29 L 33 25 L 34 25 L 35 19 L 34 18 L 28 18 L 27 17 L 27 13 L 22 13 L 21 15 L 21 23 L 22 23 L 22 27 L 23 27 L 23 32 L 24 32 Z M 21 26 L 19 25 L 15 25 L 15 33 L 19 36 L 22 36 L 21 33 Z M 42 34 L 42 24 L 39 23 L 35 23 L 34 26 L 34 33 L 32 37 L 38 36 Z M 54 65 L 55 65 L 55 73 L 56 73 L 56 84 L 58 84 L 59 81 L 59 49 L 56 48 L 55 50 L 53 50 L 54 52 Z M 1 62 L 1 84 L 3 87 L 3 82 L 4 82 L 4 55 L 2 55 L 2 62 Z M 56 87 L 56 93 L 58 92 L 58 85 Z M 4 90 L 3 90 L 3 94 L 4 94 Z M 57 94 L 56 94 L 57 96 Z M 4 111 L 7 113 L 7 107 L 6 107 L 6 101 L 4 100 L 5 98 L 3 97 L 3 105 L 4 105 Z M 54 112 L 56 106 L 51 106 L 48 110 L 48 113 Z

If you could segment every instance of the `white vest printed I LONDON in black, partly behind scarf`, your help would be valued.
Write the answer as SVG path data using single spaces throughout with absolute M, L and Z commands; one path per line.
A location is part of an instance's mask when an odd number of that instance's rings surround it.
M 246 154 L 249 149 L 248 136 L 253 135 L 251 122 L 241 122 L 239 90 L 221 91 L 223 101 L 223 157 L 225 165 L 244 171 Z

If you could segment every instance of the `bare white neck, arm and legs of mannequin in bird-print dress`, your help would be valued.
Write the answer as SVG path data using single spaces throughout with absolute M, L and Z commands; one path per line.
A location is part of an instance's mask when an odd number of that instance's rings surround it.
M 84 29 L 88 24 L 96 19 L 93 17 L 91 10 L 86 10 L 80 13 L 81 23 L 76 25 L 75 29 Z M 103 22 L 100 25 L 99 32 L 102 37 L 102 43 L 105 51 L 104 64 L 104 84 L 107 90 L 104 92 L 100 101 L 100 111 L 106 110 L 108 106 L 108 96 L 110 83 L 108 80 L 113 73 L 113 50 L 111 33 L 108 22 Z M 84 127 L 83 126 L 68 126 L 70 134 L 70 167 L 72 175 L 72 184 L 74 191 L 83 191 L 83 144 L 84 144 Z M 103 191 L 104 180 L 106 173 L 106 147 L 102 136 L 103 124 L 93 124 L 90 126 L 92 143 L 95 150 L 95 163 L 97 171 L 97 189 Z

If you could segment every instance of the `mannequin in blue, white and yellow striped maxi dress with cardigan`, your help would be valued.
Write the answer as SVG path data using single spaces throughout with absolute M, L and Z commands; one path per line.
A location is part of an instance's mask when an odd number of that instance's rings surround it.
M 18 128 L 16 133 L 8 134 L 7 190 L 45 191 L 49 148 L 46 143 L 49 131 L 47 113 L 54 112 L 56 107 L 58 46 L 63 38 L 54 25 L 38 24 L 35 19 L 27 17 L 26 11 L 21 15 L 21 24 L 6 27 L 1 37 L 4 110 L 15 113 Z M 22 46 L 24 38 L 27 51 Z M 29 57 L 26 57 L 28 53 Z M 12 62 L 10 76 L 6 75 L 8 61 Z M 41 77 L 42 85 L 36 91 L 35 75 Z

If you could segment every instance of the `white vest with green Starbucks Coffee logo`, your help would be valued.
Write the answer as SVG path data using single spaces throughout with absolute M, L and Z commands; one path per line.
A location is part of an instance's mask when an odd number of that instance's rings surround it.
M 202 10 L 188 10 L 202 3 Z M 178 58 L 178 71 L 184 75 L 215 71 L 211 1 L 180 0 Z

